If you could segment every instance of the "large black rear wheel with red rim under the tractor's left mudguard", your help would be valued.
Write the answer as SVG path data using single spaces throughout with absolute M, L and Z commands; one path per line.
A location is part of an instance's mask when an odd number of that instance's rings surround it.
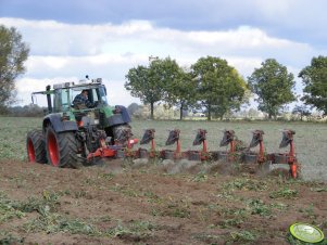
M 72 131 L 56 133 L 49 126 L 46 132 L 46 145 L 49 163 L 54 167 L 79 168 L 77 141 Z

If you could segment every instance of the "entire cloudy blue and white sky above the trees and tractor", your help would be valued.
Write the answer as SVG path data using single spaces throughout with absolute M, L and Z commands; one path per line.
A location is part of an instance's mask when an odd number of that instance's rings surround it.
M 299 72 L 327 55 L 326 10 L 325 0 L 0 0 L 0 25 L 16 27 L 30 48 L 16 80 L 20 105 L 47 85 L 89 75 L 103 79 L 111 105 L 127 106 L 140 101 L 125 75 L 149 56 L 186 67 L 218 56 L 246 79 L 276 59 L 301 94 Z

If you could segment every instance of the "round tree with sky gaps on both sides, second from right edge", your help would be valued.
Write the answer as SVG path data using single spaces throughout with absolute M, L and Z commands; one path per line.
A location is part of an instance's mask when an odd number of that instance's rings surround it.
M 252 92 L 257 95 L 259 111 L 267 113 L 271 119 L 277 116 L 282 105 L 295 101 L 292 92 L 295 81 L 287 67 L 275 59 L 267 59 L 261 65 L 248 79 Z

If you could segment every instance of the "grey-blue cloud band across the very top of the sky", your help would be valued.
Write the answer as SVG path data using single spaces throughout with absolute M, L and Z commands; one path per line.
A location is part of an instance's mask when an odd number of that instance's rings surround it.
M 71 24 L 121 25 L 148 20 L 184 31 L 255 26 L 268 35 L 326 47 L 325 0 L 1 0 L 0 15 Z

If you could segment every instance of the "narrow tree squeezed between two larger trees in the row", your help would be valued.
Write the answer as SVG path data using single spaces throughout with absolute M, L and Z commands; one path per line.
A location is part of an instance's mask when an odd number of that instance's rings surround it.
M 178 76 L 171 85 L 165 86 L 164 101 L 169 106 L 179 108 L 179 119 L 183 120 L 184 111 L 197 103 L 197 81 L 192 79 L 190 72 L 179 68 Z

